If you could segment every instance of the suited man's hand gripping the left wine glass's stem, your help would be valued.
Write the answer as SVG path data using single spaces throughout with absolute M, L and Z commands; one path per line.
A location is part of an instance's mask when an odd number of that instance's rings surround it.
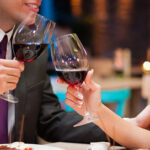
M 0 94 L 16 88 L 23 70 L 23 62 L 0 59 Z

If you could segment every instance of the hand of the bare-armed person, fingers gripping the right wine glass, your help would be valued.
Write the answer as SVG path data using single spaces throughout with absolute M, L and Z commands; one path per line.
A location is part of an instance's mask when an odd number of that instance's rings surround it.
M 85 103 L 87 111 L 95 116 L 100 101 L 100 85 L 92 81 L 93 70 L 89 71 L 85 81 L 79 86 L 68 85 L 65 103 L 72 107 L 80 115 L 85 115 Z M 58 83 L 66 83 L 60 78 Z

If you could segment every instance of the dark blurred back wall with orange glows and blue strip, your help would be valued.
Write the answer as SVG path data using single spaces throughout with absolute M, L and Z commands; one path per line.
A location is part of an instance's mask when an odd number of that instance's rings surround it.
M 92 57 L 113 57 L 116 48 L 130 48 L 133 64 L 146 59 L 149 0 L 43 0 L 41 13 L 57 23 L 59 34 L 77 33 Z

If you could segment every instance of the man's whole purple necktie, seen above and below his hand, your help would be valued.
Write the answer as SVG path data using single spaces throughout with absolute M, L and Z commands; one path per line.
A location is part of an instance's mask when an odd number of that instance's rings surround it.
M 5 59 L 8 38 L 0 42 L 0 58 Z M 0 99 L 0 143 L 8 143 L 8 102 Z

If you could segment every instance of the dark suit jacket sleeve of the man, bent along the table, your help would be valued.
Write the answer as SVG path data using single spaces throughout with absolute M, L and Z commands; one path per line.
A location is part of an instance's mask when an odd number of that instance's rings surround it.
M 106 141 L 104 132 L 93 123 L 73 127 L 81 119 L 82 117 L 76 112 L 66 112 L 61 109 L 57 97 L 52 92 L 47 75 L 38 120 L 38 135 L 50 142 L 89 143 Z

